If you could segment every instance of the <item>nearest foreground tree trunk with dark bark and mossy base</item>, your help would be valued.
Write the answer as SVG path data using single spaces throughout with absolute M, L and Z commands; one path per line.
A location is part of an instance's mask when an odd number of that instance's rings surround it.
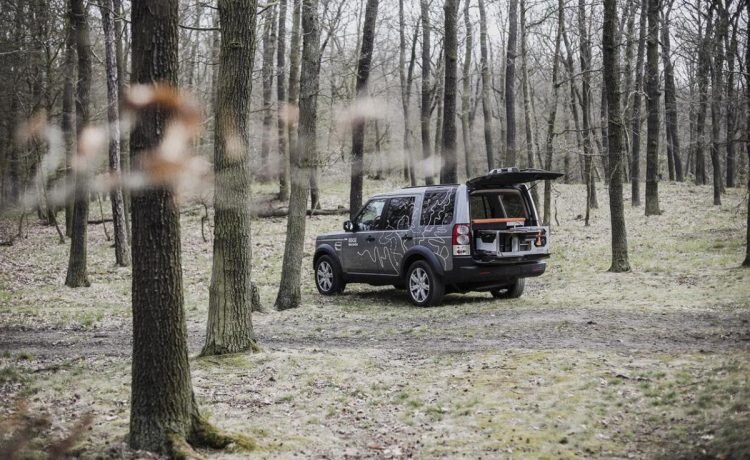
M 177 0 L 132 2 L 135 84 L 177 83 Z M 249 21 L 255 2 L 219 1 L 223 17 Z M 223 22 L 223 21 L 222 21 Z M 229 22 L 229 21 L 228 21 Z M 249 30 L 252 27 L 247 26 Z M 134 164 L 162 140 L 171 110 L 143 110 L 131 135 Z M 190 381 L 182 291 L 180 213 L 168 186 L 133 193 L 133 364 L 129 444 L 172 458 L 199 457 L 191 446 L 250 447 L 211 427 Z

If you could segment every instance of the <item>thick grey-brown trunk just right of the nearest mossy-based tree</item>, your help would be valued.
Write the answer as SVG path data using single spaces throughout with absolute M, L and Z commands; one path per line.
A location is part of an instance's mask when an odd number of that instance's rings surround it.
M 237 353 L 256 347 L 251 319 L 252 176 L 248 136 L 255 9 L 248 12 L 235 6 L 222 13 L 229 16 L 221 16 L 214 132 L 214 251 L 202 355 Z

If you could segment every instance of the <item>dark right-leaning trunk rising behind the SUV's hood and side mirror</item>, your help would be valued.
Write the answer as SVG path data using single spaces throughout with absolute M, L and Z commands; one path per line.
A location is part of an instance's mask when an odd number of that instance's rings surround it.
M 378 17 L 378 1 L 367 0 L 365 7 L 365 22 L 362 27 L 362 48 L 359 52 L 357 64 L 357 99 L 367 97 L 367 80 L 370 78 L 370 64 L 375 46 L 375 21 Z M 351 219 L 362 207 L 362 185 L 363 185 L 363 157 L 365 144 L 364 114 L 352 120 L 352 169 L 351 187 L 349 189 L 349 209 Z M 314 208 L 313 208 L 314 209 Z

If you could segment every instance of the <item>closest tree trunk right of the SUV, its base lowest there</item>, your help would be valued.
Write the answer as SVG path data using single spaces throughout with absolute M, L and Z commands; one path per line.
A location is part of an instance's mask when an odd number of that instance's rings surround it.
M 604 0 L 603 46 L 603 80 L 607 92 L 607 149 L 609 155 L 609 210 L 612 226 L 612 265 L 611 272 L 630 271 L 628 262 L 628 240 L 625 227 L 625 207 L 622 200 L 622 124 L 619 120 L 619 51 L 615 42 L 615 21 L 617 1 Z

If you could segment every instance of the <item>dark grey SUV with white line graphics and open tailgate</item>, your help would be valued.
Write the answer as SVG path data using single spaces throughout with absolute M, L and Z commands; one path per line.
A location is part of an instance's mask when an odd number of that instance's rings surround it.
M 515 298 L 544 273 L 549 228 L 528 183 L 559 173 L 503 168 L 466 184 L 407 187 L 372 197 L 343 232 L 315 241 L 315 284 L 323 295 L 347 283 L 406 288 L 418 306 L 447 292 Z

